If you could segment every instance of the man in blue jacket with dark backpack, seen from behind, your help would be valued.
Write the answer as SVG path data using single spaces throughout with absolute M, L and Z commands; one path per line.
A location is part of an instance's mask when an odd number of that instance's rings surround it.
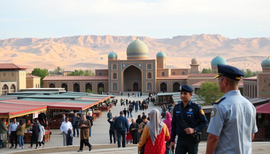
M 117 132 L 117 144 L 118 148 L 121 147 L 121 142 L 120 138 L 122 136 L 122 147 L 126 147 L 126 133 L 129 130 L 128 125 L 127 125 L 127 119 L 123 116 L 124 113 L 123 111 L 120 111 L 120 116 L 117 117 L 113 123 L 114 129 Z

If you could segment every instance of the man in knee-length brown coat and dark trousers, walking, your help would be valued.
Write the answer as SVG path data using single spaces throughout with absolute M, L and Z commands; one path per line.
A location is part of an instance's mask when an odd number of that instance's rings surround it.
M 89 147 L 89 151 L 92 150 L 92 145 L 89 143 L 89 128 L 91 127 L 90 121 L 86 119 L 85 114 L 82 114 L 82 120 L 79 122 L 80 129 L 80 150 L 78 152 L 83 151 L 83 145 Z

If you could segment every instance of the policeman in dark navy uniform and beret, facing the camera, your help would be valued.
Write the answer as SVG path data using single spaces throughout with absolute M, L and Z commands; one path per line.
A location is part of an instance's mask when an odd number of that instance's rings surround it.
M 193 88 L 188 85 L 180 86 L 180 98 L 182 101 L 178 101 L 173 110 L 170 147 L 174 149 L 174 139 L 178 135 L 176 154 L 186 154 L 187 152 L 188 154 L 197 154 L 199 144 L 195 142 L 195 134 L 208 125 L 201 106 L 190 99 L 193 91 Z

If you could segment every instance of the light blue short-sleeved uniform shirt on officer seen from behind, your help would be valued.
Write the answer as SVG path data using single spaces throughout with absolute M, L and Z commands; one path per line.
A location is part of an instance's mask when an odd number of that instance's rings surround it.
M 256 109 L 239 90 L 231 90 L 214 104 L 208 133 L 219 136 L 214 153 L 251 154 L 251 134 L 258 131 Z

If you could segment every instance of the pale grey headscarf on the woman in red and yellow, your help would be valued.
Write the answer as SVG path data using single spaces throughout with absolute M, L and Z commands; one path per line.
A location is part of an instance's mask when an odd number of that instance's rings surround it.
M 160 113 L 158 109 L 153 108 L 150 111 L 150 122 L 147 124 L 149 128 L 149 134 L 152 140 L 152 144 L 156 141 L 157 135 L 159 135 L 163 128 L 163 122 L 159 121 Z

